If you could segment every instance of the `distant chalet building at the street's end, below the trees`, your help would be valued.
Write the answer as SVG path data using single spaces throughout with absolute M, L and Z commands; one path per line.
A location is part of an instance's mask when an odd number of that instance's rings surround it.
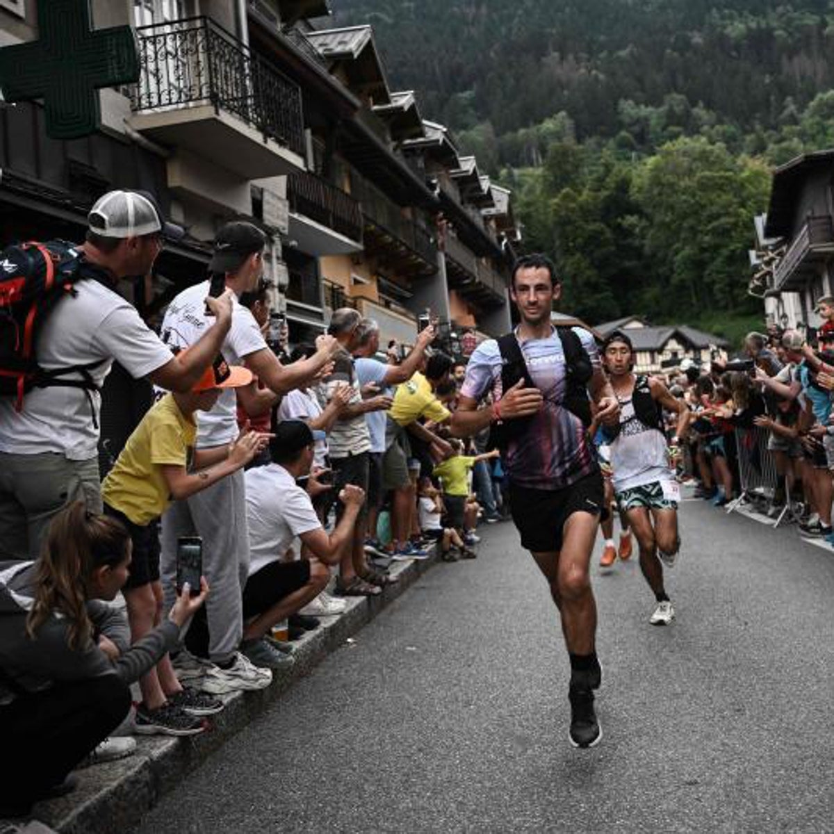
M 625 331 L 634 345 L 635 370 L 638 374 L 666 373 L 680 367 L 684 359 L 691 359 L 703 366 L 729 346 L 726 339 L 702 333 L 686 324 L 653 327 L 637 316 L 597 324 L 594 330 L 601 339 L 615 330 Z

